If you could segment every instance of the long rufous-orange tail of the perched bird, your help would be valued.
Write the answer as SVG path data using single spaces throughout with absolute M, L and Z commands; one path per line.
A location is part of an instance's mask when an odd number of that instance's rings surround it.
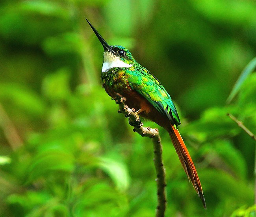
M 201 198 L 204 208 L 206 209 L 206 203 L 202 191 L 202 186 L 197 175 L 197 170 L 189 155 L 186 145 L 184 144 L 178 129 L 176 129 L 174 126 L 172 126 L 168 133 L 173 141 L 174 148 L 179 156 L 180 162 L 187 174 L 187 177 L 189 178 L 189 181 L 192 182 L 195 190 L 197 191 L 198 197 Z

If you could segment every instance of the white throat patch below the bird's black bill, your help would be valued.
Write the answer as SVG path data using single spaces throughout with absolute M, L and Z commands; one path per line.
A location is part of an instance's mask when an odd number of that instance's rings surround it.
M 114 67 L 131 67 L 132 64 L 128 64 L 126 62 L 122 62 L 122 60 L 110 53 L 109 51 L 105 51 L 104 54 L 104 59 L 103 59 L 103 66 L 101 72 L 106 72 L 109 69 L 112 69 Z

